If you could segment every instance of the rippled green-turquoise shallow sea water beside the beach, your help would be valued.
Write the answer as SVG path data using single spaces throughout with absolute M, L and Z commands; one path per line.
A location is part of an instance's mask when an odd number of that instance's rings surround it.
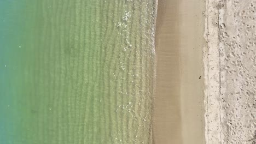
M 155 8 L 1 0 L 0 143 L 152 143 Z

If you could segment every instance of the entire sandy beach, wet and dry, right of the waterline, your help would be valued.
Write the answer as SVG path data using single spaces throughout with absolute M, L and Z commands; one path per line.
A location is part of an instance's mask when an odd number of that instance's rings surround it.
M 256 143 L 256 1 L 159 1 L 154 143 Z

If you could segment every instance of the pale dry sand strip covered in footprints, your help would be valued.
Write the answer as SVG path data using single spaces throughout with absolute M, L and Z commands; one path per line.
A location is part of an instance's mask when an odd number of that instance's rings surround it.
M 255 143 L 256 2 L 206 5 L 206 143 Z

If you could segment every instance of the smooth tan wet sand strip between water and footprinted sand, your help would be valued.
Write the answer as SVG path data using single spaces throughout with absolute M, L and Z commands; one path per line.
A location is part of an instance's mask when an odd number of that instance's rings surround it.
M 204 3 L 201 0 L 158 2 L 155 144 L 205 142 L 202 79 Z

